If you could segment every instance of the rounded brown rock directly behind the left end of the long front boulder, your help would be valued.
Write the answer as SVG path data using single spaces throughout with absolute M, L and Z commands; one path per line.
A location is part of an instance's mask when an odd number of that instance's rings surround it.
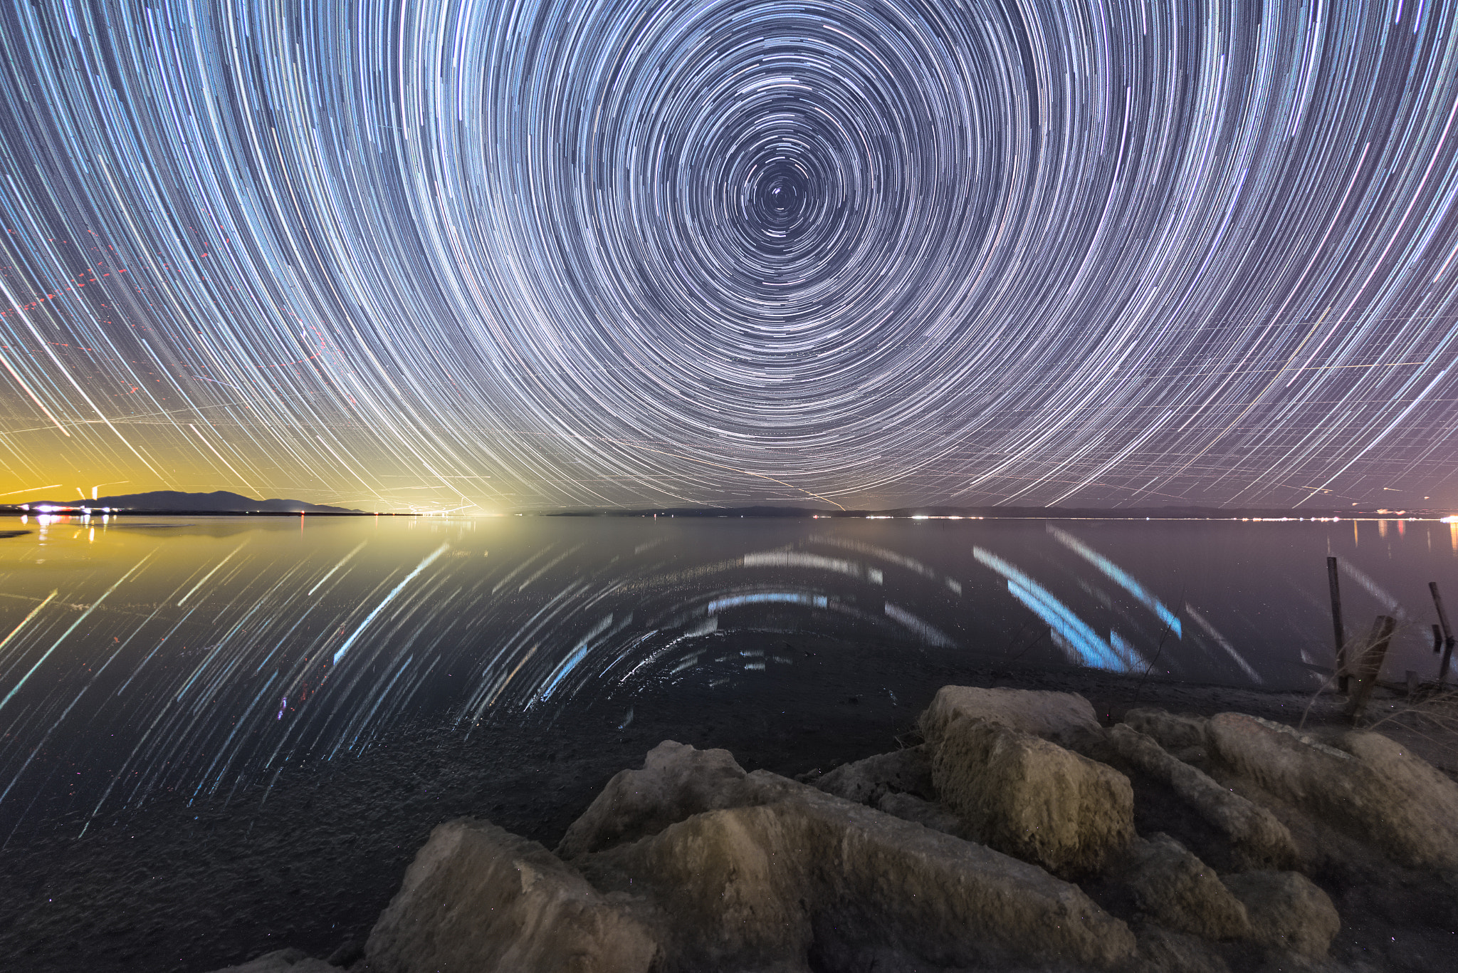
M 642 770 L 623 770 L 608 780 L 567 829 L 557 855 L 572 859 L 656 834 L 691 814 L 744 804 L 744 778 L 728 750 L 665 740 L 647 753 Z

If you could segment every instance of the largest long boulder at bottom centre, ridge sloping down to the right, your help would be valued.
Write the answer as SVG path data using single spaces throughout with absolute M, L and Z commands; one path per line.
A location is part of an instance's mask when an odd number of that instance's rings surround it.
M 921 969 L 1107 967 L 1134 951 L 1123 922 L 1041 868 L 763 770 L 748 783 L 749 807 L 580 862 L 602 888 L 652 890 L 665 972 L 795 969 L 815 950 L 919 955 Z

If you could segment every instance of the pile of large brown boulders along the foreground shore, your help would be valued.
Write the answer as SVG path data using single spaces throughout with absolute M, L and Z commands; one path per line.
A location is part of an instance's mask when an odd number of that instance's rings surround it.
M 1322 885 L 1458 929 L 1458 783 L 1379 734 L 956 686 L 920 731 L 802 780 L 666 741 L 555 852 L 440 824 L 362 950 L 226 973 L 1375 969 Z

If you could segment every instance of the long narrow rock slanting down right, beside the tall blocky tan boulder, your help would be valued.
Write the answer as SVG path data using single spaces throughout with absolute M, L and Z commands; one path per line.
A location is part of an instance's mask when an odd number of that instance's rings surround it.
M 1201 818 L 1225 834 L 1250 865 L 1286 868 L 1296 861 L 1290 831 L 1274 814 L 1175 759 L 1150 737 L 1118 724 L 1105 732 L 1104 743 L 1101 750 L 1107 753 L 1083 753 L 1169 785 Z

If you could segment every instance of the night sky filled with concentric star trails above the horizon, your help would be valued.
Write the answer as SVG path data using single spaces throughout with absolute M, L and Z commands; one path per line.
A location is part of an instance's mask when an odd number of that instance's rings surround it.
M 1451 0 L 0 1 L 0 500 L 1458 503 Z

